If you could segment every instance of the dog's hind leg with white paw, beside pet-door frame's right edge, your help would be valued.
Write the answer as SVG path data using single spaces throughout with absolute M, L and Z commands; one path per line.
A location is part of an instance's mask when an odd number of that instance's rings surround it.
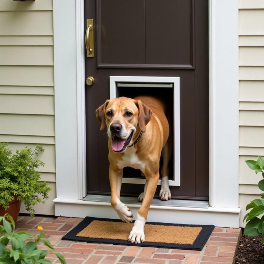
M 171 193 L 170 193 L 170 187 L 169 187 L 169 168 L 168 168 L 168 164 L 169 164 L 169 160 L 171 157 L 171 153 L 172 153 L 172 135 L 171 133 L 169 134 L 169 138 L 166 142 L 166 144 L 164 145 L 163 149 L 162 149 L 162 158 L 163 158 L 163 165 L 161 168 L 161 176 L 162 176 L 162 180 L 161 180 L 161 189 L 160 189 L 160 200 L 162 201 L 167 201 L 170 200 L 171 198 Z

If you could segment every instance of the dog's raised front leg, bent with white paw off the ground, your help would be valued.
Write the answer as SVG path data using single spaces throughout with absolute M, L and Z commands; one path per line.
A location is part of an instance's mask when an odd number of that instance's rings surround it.
M 131 223 L 133 219 L 130 209 L 120 201 L 123 170 L 109 167 L 109 180 L 111 186 L 111 205 L 123 222 Z

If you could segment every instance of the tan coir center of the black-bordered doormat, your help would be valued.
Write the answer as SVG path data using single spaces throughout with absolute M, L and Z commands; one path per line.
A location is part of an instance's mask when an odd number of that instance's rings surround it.
M 94 220 L 76 236 L 127 240 L 133 225 Z M 144 233 L 146 242 L 192 245 L 201 230 L 202 227 L 146 224 Z

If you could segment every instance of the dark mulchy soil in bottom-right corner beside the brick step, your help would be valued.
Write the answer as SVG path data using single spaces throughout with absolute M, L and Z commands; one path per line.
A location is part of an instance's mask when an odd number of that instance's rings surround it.
M 261 236 L 242 235 L 236 253 L 236 264 L 264 263 L 264 243 L 261 243 Z

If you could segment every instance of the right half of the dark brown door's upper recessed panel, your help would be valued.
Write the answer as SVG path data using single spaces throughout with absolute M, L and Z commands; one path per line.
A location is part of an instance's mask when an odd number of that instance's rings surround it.
M 191 2 L 145 1 L 146 64 L 192 64 Z

